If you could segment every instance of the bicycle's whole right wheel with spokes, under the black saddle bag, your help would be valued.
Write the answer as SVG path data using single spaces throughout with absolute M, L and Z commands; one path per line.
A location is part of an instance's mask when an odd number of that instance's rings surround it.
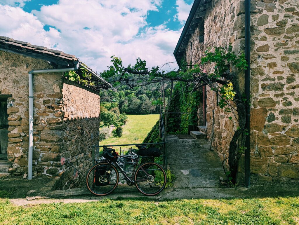
M 135 186 L 147 196 L 158 195 L 166 185 L 166 173 L 157 163 L 143 163 L 136 170 Z

